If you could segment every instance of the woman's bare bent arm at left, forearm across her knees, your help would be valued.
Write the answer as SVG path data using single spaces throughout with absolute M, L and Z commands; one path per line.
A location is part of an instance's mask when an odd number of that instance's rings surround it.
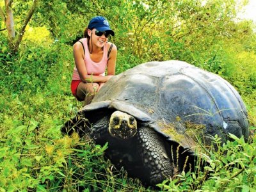
M 112 52 L 112 51 L 111 51 Z M 104 83 L 108 81 L 109 77 L 106 76 L 92 76 L 88 75 L 86 67 L 84 65 L 84 50 L 83 45 L 79 42 L 76 42 L 73 46 L 73 54 L 74 54 L 74 60 L 76 63 L 77 72 L 81 78 L 81 81 L 84 83 Z

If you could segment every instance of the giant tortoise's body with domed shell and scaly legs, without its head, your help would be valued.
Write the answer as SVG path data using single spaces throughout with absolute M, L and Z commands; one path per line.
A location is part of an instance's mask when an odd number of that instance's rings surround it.
M 136 118 L 134 137 L 109 134 L 116 110 Z M 198 140 L 211 145 L 217 134 L 225 142 L 228 133 L 248 138 L 248 119 L 239 93 L 220 76 L 182 61 L 154 61 L 112 77 L 61 131 L 73 130 L 109 142 L 106 156 L 118 168 L 154 185 L 193 168 Z

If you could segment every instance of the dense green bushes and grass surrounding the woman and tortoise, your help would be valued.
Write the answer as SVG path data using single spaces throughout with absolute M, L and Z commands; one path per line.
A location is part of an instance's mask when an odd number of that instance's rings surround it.
M 31 4 L 13 1 L 18 27 Z M 0 31 L 0 191 L 153 190 L 116 171 L 102 156 L 108 145 L 60 134 L 83 106 L 70 92 L 72 44 L 95 15 L 108 18 L 115 30 L 117 74 L 153 60 L 183 60 L 214 72 L 242 95 L 253 132 L 256 33 L 253 22 L 237 20 L 236 13 L 231 0 L 38 1 L 18 52 L 10 49 L 6 30 Z M 255 191 L 256 138 L 252 134 L 246 143 L 231 137 L 225 145 L 215 138 L 218 152 L 204 152 L 207 175 L 198 168 L 156 190 Z

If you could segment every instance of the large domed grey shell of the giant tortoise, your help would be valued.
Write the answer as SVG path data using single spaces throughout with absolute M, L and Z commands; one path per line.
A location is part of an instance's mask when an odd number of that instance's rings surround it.
M 228 133 L 248 138 L 246 108 L 235 88 L 184 61 L 152 61 L 113 76 L 81 112 L 92 121 L 95 110 L 128 113 L 193 152 L 198 140 L 210 145 L 216 134 L 222 141 Z

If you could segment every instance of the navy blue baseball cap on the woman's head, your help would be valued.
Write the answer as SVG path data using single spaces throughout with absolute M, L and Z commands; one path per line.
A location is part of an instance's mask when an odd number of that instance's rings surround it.
M 104 17 L 93 17 L 88 24 L 88 29 L 93 28 L 97 29 L 98 31 L 108 31 L 110 35 L 115 36 L 114 31 L 109 28 L 108 20 L 106 20 Z

